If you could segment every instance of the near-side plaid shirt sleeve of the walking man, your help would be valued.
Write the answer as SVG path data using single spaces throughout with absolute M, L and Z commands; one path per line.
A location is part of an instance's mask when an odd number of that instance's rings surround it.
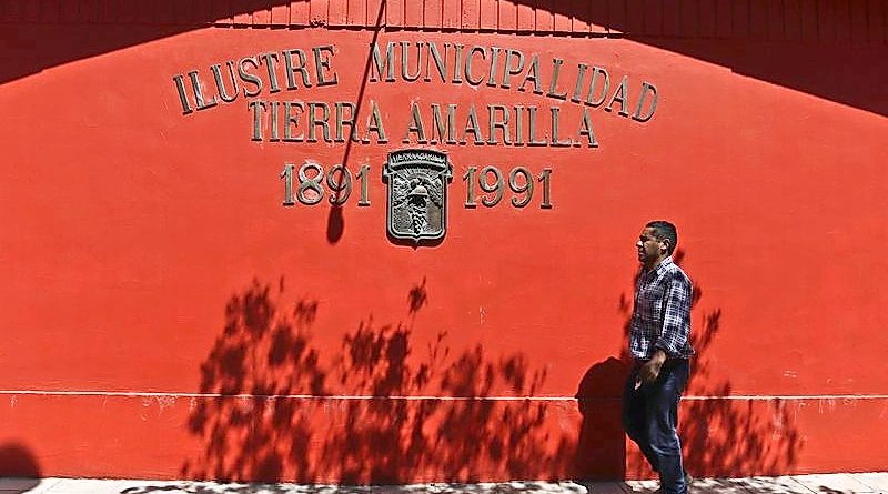
M 690 300 L 693 285 L 680 271 L 670 273 L 668 286 L 664 293 L 663 329 L 654 346 L 666 352 L 668 356 L 678 357 L 687 353 L 690 335 Z

